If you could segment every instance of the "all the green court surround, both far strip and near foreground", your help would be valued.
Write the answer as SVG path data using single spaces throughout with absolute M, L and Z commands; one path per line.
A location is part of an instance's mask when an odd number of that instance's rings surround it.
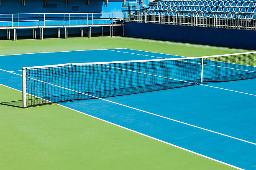
M 106 48 L 189 57 L 248 51 L 127 37 L 0 41 L 0 55 Z M 0 102 L 20 99 L 21 92 L 0 86 Z M 22 109 L 2 104 L 0 132 L 1 170 L 233 169 L 59 105 Z

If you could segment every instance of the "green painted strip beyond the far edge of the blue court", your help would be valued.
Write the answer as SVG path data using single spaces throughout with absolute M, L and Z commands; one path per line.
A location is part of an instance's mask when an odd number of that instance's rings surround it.
M 145 40 L 129 37 L 76 37 L 69 38 L 67 40 L 63 38 L 54 38 L 44 40 L 18 40 L 16 42 L 10 40 L 0 41 L 0 55 L 106 48 L 129 48 L 134 50 L 181 55 L 186 57 L 198 57 L 205 55 L 219 55 L 249 51 L 225 47 L 191 45 L 186 43 Z

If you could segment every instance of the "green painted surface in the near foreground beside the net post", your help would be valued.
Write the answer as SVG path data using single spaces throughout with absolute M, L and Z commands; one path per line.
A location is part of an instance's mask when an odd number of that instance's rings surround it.
M 0 94 L 21 96 L 4 86 Z M 59 105 L 0 105 L 0 132 L 1 170 L 233 169 Z

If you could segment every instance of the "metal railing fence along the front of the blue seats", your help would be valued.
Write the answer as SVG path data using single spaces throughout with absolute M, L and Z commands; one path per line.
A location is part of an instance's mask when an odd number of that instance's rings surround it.
M 195 27 L 256 30 L 256 14 L 129 10 L 125 21 Z

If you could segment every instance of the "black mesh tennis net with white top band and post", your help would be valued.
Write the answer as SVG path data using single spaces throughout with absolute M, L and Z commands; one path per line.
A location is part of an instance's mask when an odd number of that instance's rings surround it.
M 256 78 L 256 52 L 22 67 L 23 107 Z

